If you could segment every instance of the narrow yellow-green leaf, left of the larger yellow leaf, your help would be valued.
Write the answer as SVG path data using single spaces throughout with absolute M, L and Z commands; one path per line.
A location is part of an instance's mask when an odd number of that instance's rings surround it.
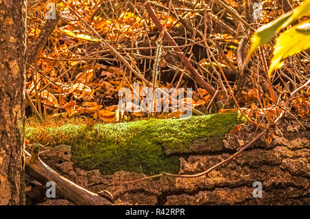
M 287 12 L 287 14 L 283 14 L 278 19 L 260 27 L 260 29 L 258 29 L 258 32 L 256 32 L 256 34 L 254 34 L 254 36 L 251 38 L 251 49 L 249 53 L 251 54 L 260 45 L 268 43 L 275 34 L 275 32 L 281 27 L 281 25 L 285 23 L 287 19 L 289 19 L 291 14 L 292 12 Z

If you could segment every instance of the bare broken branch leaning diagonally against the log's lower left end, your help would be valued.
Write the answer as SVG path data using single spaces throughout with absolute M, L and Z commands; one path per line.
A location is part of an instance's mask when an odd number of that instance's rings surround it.
M 75 205 L 112 205 L 109 198 L 90 192 L 83 187 L 59 175 L 39 158 L 39 148 L 34 148 L 32 154 L 25 151 L 25 170 L 40 183 L 45 185 L 52 181 L 56 185 L 56 194 L 70 200 Z

